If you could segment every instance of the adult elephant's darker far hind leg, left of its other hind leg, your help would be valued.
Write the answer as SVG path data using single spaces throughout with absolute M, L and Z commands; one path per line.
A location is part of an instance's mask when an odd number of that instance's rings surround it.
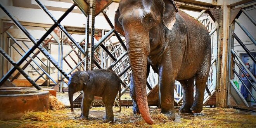
M 180 107 L 180 112 L 182 113 L 192 113 L 190 108 L 194 102 L 194 78 L 188 80 L 179 80 L 183 88 L 183 104 Z

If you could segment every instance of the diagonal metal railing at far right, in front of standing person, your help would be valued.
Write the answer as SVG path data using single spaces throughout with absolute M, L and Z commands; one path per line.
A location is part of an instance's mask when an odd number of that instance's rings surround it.
M 236 107 L 241 107 L 241 108 L 246 108 L 246 109 L 250 109 L 250 108 L 253 107 L 253 104 L 250 104 L 249 102 L 256 102 L 256 98 L 255 98 L 256 96 L 253 95 L 253 90 L 256 91 L 256 87 L 253 84 L 253 82 L 256 83 L 256 78 L 254 77 L 253 73 L 251 73 L 249 71 L 249 69 L 245 66 L 242 59 L 240 59 L 239 54 L 235 51 L 235 49 L 234 49 L 234 39 L 237 40 L 237 42 L 241 46 L 242 50 L 244 50 L 244 52 L 246 52 L 246 54 L 254 62 L 254 64 L 256 64 L 256 59 L 253 56 L 253 54 L 251 53 L 251 51 L 248 50 L 246 45 L 244 45 L 244 43 L 240 40 L 240 38 L 235 33 L 235 23 L 236 23 L 238 25 L 237 27 L 241 28 L 242 31 L 244 31 L 244 33 L 248 36 L 249 40 L 251 40 L 251 42 L 252 42 L 251 45 L 256 47 L 256 42 L 255 42 L 255 39 L 254 39 L 255 37 L 253 37 L 251 35 L 251 33 L 249 33 L 249 31 L 244 27 L 243 23 L 239 21 L 239 17 L 243 13 L 249 19 L 249 21 L 251 21 L 253 23 L 254 26 L 250 26 L 250 27 L 255 27 L 256 26 L 255 19 L 246 11 L 246 9 L 249 9 L 249 8 L 251 8 L 251 9 L 254 8 L 255 9 L 255 5 L 250 5 L 250 6 L 247 6 L 247 7 L 240 8 L 240 11 L 238 11 L 239 13 L 237 13 L 237 16 L 234 18 L 234 20 L 230 24 L 230 26 L 231 26 L 230 27 L 231 28 L 231 30 L 230 30 L 231 51 L 230 52 L 231 53 L 230 53 L 230 57 L 229 57 L 230 61 L 231 61 L 231 66 L 230 66 L 230 69 L 229 69 L 230 70 L 230 93 L 232 93 L 233 98 L 235 99 L 235 102 L 236 102 L 237 105 L 228 104 L 228 106 L 236 106 Z M 242 77 L 240 76 L 239 71 L 240 71 L 241 74 L 244 75 L 244 78 L 246 78 L 248 83 L 251 85 L 252 90 L 251 90 L 251 88 L 248 88 L 246 86 Z M 252 80 L 249 79 L 247 74 L 249 74 L 249 76 L 251 77 Z M 247 101 L 247 99 L 244 99 L 242 93 L 239 90 L 239 87 L 237 87 L 235 85 L 234 81 L 240 81 L 241 84 L 242 84 L 241 87 L 244 87 L 248 91 L 248 94 L 251 96 L 251 99 L 253 99 L 254 101 L 250 101 L 250 100 Z M 232 91 L 232 90 L 235 90 L 235 91 Z

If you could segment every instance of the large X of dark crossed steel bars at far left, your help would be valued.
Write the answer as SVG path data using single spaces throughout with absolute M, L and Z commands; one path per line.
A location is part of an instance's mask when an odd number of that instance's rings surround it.
M 57 24 L 55 23 L 38 41 L 36 41 L 36 39 L 28 32 L 28 30 L 26 28 L 24 28 L 24 26 L 21 25 L 21 23 L 19 21 L 17 21 L 17 19 L 14 19 L 14 17 L 2 6 L 2 4 L 0 4 L 0 8 L 7 14 L 7 16 L 10 17 L 10 19 L 14 22 L 14 24 L 16 24 L 16 26 L 21 29 L 21 31 L 28 36 L 28 38 L 31 40 L 31 42 L 33 42 L 35 45 L 30 48 L 28 50 L 28 52 L 26 52 L 26 54 L 19 60 L 19 62 L 17 62 L 17 66 L 20 66 L 22 64 L 22 62 L 25 61 L 25 59 L 27 59 L 29 57 L 29 55 L 36 49 L 38 48 L 44 55 L 45 57 L 47 57 L 47 59 L 52 62 L 52 64 L 54 64 L 54 66 L 62 73 L 64 74 L 64 76 L 69 79 L 69 76 L 67 76 L 67 74 L 57 65 L 57 62 L 55 62 L 54 59 L 52 59 L 53 57 L 40 45 L 40 43 L 43 42 L 43 40 L 54 30 L 54 28 L 56 28 Z M 67 14 L 69 12 L 71 12 L 73 10 L 73 8 L 70 8 L 67 10 L 67 12 L 65 12 L 61 18 L 58 20 L 58 22 L 61 22 L 64 17 L 67 16 Z M 8 73 L 0 80 L 0 86 L 3 85 L 3 83 L 10 77 L 10 75 L 12 73 L 14 73 L 15 71 L 15 67 L 13 67 L 12 69 L 10 69 L 8 71 Z

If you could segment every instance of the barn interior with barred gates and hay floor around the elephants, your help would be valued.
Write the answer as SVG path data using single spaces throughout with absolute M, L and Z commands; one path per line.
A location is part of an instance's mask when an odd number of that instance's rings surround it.
M 161 114 L 159 76 L 150 67 L 146 90 L 152 126 L 131 109 L 127 42 L 114 28 L 119 2 L 0 1 L 0 127 L 256 126 L 255 0 L 174 0 L 180 11 L 201 22 L 211 36 L 209 91 L 204 92 L 201 113 L 180 113 L 184 91 L 175 81 L 176 119 L 172 121 Z M 113 122 L 102 122 L 105 106 L 101 97 L 93 100 L 89 119 L 81 120 L 82 91 L 74 94 L 71 112 L 69 78 L 76 71 L 96 69 L 112 70 L 122 81 L 121 100 L 117 95 L 113 105 Z M 250 86 L 245 86 L 244 79 Z

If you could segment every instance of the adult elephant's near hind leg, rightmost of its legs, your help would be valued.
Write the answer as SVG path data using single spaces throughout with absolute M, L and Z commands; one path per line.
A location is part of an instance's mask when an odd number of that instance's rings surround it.
M 209 57 L 211 57 L 210 55 Z M 210 64 L 211 58 L 208 59 L 208 56 L 206 56 L 195 76 L 195 100 L 191 107 L 193 113 L 200 113 L 202 111 L 204 90 L 209 75 Z

